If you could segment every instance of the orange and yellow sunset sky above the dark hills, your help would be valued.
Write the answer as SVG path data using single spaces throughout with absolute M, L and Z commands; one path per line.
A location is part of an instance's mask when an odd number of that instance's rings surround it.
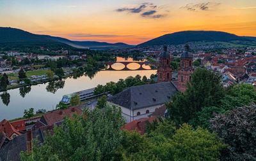
M 186 30 L 256 36 L 256 0 L 0 0 L 0 26 L 133 45 Z

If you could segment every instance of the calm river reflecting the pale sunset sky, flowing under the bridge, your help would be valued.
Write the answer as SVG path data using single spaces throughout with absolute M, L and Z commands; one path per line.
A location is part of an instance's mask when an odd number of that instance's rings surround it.
M 118 58 L 117 61 L 132 61 L 132 59 L 124 60 Z M 135 61 L 134 61 L 135 62 Z M 113 64 L 114 69 L 122 69 L 124 66 L 121 64 Z M 130 64 L 130 69 L 136 69 L 139 67 L 138 64 Z M 143 66 L 149 68 L 148 66 Z M 99 71 L 95 76 L 90 79 L 88 76 L 81 76 L 77 79 L 67 78 L 63 88 L 59 88 L 55 92 L 48 92 L 47 86 L 49 83 L 31 86 L 28 94 L 20 95 L 20 89 L 16 88 L 8 90 L 10 94 L 10 102 L 8 106 L 3 103 L 0 99 L 0 121 L 4 118 L 10 120 L 13 118 L 19 118 L 23 116 L 24 109 L 34 108 L 34 111 L 38 109 L 52 110 L 55 109 L 56 104 L 61 101 L 61 98 L 65 94 L 71 94 L 80 90 L 97 87 L 97 85 L 105 85 L 109 81 L 118 81 L 119 79 L 125 79 L 127 76 L 140 76 L 150 77 L 151 74 L 156 74 L 156 70 L 144 70 L 144 71 Z

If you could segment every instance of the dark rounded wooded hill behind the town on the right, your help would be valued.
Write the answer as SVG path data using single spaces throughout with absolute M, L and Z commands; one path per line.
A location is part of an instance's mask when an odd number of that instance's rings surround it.
M 253 37 L 252 37 L 253 38 Z M 188 42 L 205 41 L 205 42 L 230 42 L 230 41 L 255 41 L 252 38 L 236 36 L 227 32 L 220 31 L 180 31 L 172 34 L 165 34 L 155 39 L 151 39 L 139 46 L 152 45 L 179 45 Z

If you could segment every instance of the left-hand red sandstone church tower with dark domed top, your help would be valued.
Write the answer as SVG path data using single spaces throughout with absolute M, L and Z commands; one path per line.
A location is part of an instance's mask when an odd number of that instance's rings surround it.
M 172 67 L 170 66 L 171 57 L 164 45 L 163 52 L 159 55 L 159 66 L 157 67 L 157 83 L 172 80 Z

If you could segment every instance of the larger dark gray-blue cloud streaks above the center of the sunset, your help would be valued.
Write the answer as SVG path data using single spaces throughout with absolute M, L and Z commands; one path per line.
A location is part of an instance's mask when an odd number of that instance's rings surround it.
M 141 17 L 149 17 L 149 18 L 160 18 L 164 17 L 162 14 L 156 14 L 157 10 L 161 8 L 157 7 L 153 3 L 141 3 L 132 8 L 118 8 L 116 11 L 118 12 L 127 12 L 127 13 L 141 13 Z

